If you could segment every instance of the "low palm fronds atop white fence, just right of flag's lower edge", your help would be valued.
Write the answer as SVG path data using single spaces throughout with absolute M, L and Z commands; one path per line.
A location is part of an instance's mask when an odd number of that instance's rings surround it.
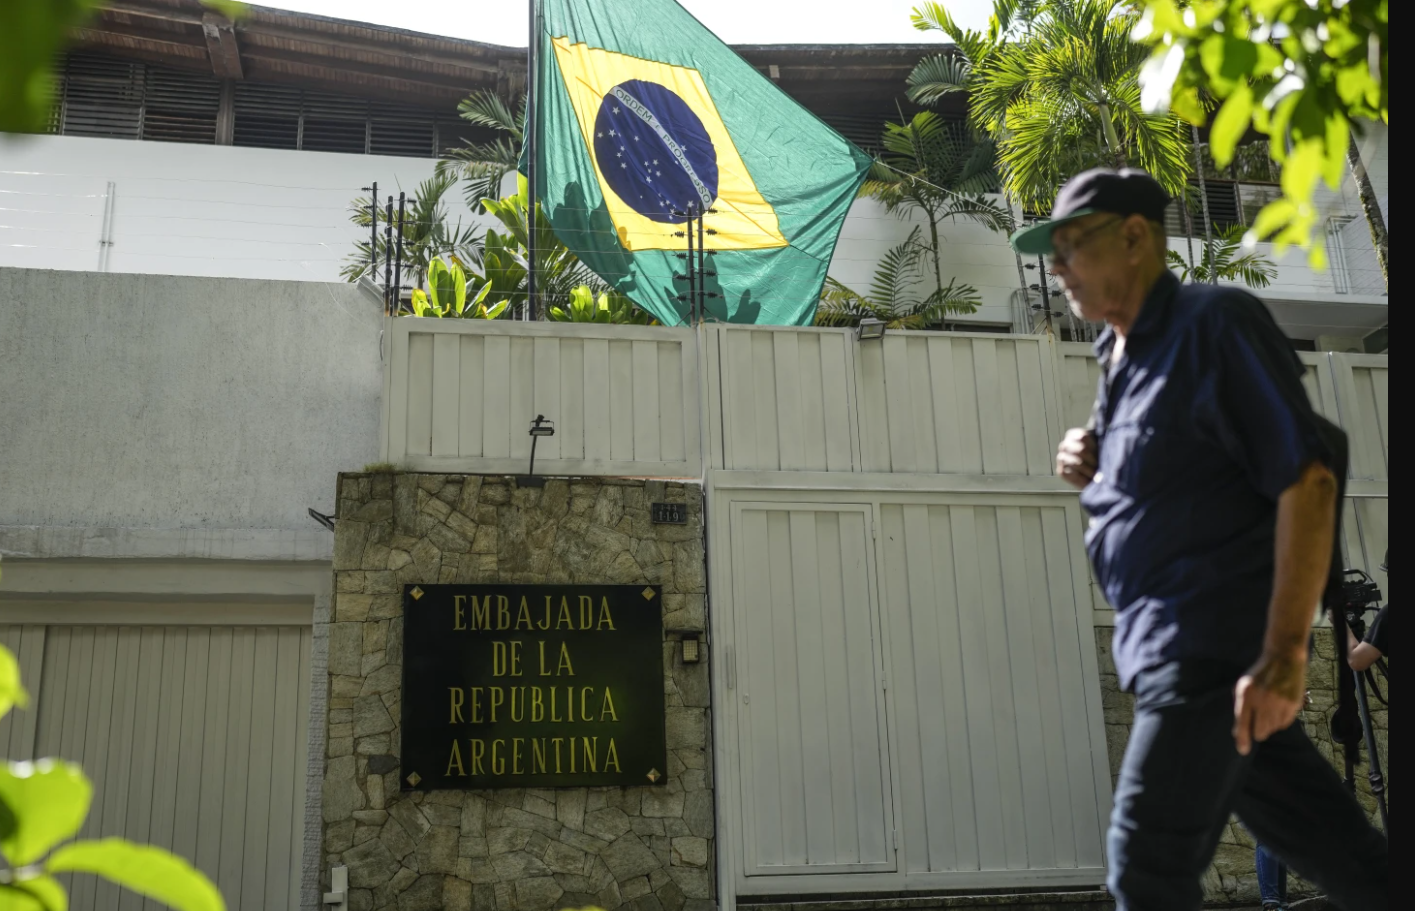
M 942 323 L 954 313 L 974 313 L 982 298 L 978 289 L 949 279 L 944 287 L 920 294 L 924 260 L 930 246 L 914 228 L 903 243 L 891 248 L 874 270 L 869 294 L 860 294 L 828 277 L 815 311 L 816 325 L 859 325 L 860 320 L 880 320 L 889 328 L 921 330 Z

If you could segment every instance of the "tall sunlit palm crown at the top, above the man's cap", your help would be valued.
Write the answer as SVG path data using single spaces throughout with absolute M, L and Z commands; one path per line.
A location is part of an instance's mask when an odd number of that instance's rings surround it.
M 1189 180 L 1189 139 L 1174 115 L 1140 108 L 1149 50 L 1131 41 L 1126 0 L 996 0 L 988 34 L 958 27 L 941 3 L 914 25 L 952 38 L 957 54 L 918 64 L 910 98 L 969 92 L 972 123 L 998 143 L 1007 195 L 1046 209 L 1065 180 L 1091 167 L 1142 167 L 1170 194 Z

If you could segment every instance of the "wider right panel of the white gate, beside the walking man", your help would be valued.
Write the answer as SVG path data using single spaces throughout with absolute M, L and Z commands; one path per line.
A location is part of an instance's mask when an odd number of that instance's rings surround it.
M 882 505 L 907 873 L 1102 867 L 1080 521 L 1056 499 L 1003 502 Z

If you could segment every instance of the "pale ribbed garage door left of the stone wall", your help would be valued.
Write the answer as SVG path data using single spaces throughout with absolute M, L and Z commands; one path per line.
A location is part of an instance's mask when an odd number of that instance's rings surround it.
M 232 911 L 299 907 L 307 627 L 0 625 L 0 641 L 31 695 L 0 748 L 83 765 L 82 837 L 181 854 Z M 143 907 L 89 876 L 71 890 L 74 911 Z

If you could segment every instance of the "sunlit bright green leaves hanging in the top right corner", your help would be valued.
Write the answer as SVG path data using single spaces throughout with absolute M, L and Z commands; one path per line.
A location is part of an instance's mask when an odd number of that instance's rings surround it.
M 1133 35 L 1153 48 L 1140 76 L 1145 108 L 1172 109 L 1203 124 L 1204 96 L 1223 102 L 1210 130 L 1220 167 L 1249 127 L 1269 136 L 1283 166 L 1283 195 L 1264 207 L 1254 236 L 1271 236 L 1278 253 L 1290 245 L 1305 248 L 1313 266 L 1324 266 L 1326 250 L 1313 242 L 1316 182 L 1340 184 L 1360 120 L 1390 123 L 1388 0 L 1145 0 L 1143 6 Z

